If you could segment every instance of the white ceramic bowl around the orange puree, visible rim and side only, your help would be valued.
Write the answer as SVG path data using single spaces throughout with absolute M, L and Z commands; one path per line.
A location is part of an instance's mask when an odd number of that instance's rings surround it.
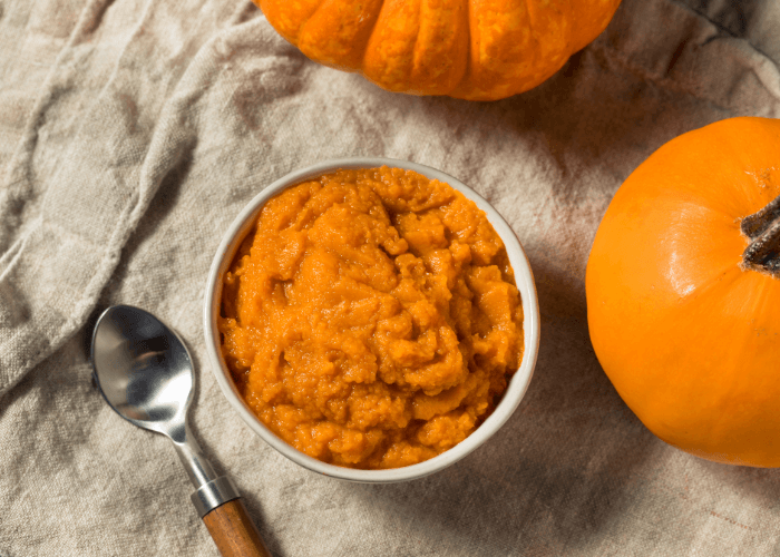
M 429 179 L 436 178 L 440 182 L 445 182 L 476 203 L 477 206 L 487 214 L 488 221 L 490 221 L 490 224 L 493 224 L 494 228 L 504 241 L 507 254 L 509 255 L 509 262 L 515 270 L 515 281 L 523 300 L 525 351 L 523 353 L 523 362 L 520 363 L 520 368 L 517 370 L 517 372 L 515 372 L 509 381 L 509 385 L 493 414 L 490 414 L 490 417 L 488 417 L 488 419 L 485 420 L 485 422 L 482 422 L 482 424 L 479 426 L 479 428 L 477 428 L 477 430 L 467 437 L 462 442 L 456 444 L 448 451 L 442 452 L 438 457 L 418 465 L 412 465 L 404 468 L 392 468 L 389 470 L 354 470 L 351 468 L 328 465 L 304 455 L 272 433 L 271 430 L 267 429 L 254 416 L 254 413 L 252 413 L 236 390 L 233 379 L 231 378 L 231 373 L 222 356 L 222 351 L 220 348 L 220 332 L 217 331 L 216 319 L 220 313 L 220 300 L 222 297 L 222 276 L 228 270 L 233 257 L 235 256 L 236 250 L 252 228 L 257 214 L 266 201 L 286 187 L 300 184 L 301 182 L 330 172 L 341 168 L 376 168 L 382 165 L 415 170 Z M 530 271 L 528 258 L 526 257 L 517 236 L 506 221 L 504 221 L 504 218 L 501 218 L 501 216 L 496 212 L 496 209 L 493 208 L 488 202 L 477 195 L 471 188 L 442 172 L 436 170 L 428 166 L 419 165 L 417 163 L 393 160 L 389 158 L 345 158 L 339 160 L 325 160 L 323 163 L 318 163 L 306 168 L 287 174 L 257 194 L 254 199 L 252 199 L 246 207 L 244 207 L 235 221 L 233 221 L 233 224 L 231 224 L 230 228 L 227 228 L 225 236 L 220 243 L 220 247 L 216 251 L 214 262 L 212 263 L 212 267 L 208 273 L 208 283 L 205 294 L 204 330 L 212 371 L 216 377 L 217 383 L 220 383 L 222 392 L 225 394 L 231 405 L 233 405 L 241 418 L 246 422 L 246 424 L 269 444 L 271 444 L 271 447 L 276 449 L 293 462 L 325 476 L 351 481 L 386 483 L 421 478 L 447 468 L 487 441 L 487 439 L 498 431 L 498 428 L 500 428 L 509 419 L 528 389 L 528 383 L 530 383 L 530 378 L 534 373 L 534 365 L 536 364 L 536 355 L 539 346 L 539 309 L 536 297 L 536 287 L 534 285 L 534 275 Z

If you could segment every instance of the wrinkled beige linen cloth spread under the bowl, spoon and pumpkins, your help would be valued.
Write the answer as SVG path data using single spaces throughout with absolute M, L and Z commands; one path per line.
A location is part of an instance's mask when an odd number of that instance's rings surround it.
M 779 61 L 776 0 L 624 0 L 543 86 L 467 102 L 318 66 L 246 0 L 0 0 L 0 555 L 217 553 L 168 441 L 90 385 L 90 322 L 113 303 L 189 345 L 194 431 L 276 556 L 780 554 L 780 472 L 647 432 L 594 356 L 584 292 L 622 180 L 681 133 L 780 116 Z M 347 156 L 457 176 L 536 274 L 525 400 L 418 481 L 353 485 L 285 460 L 230 408 L 203 348 L 228 223 L 273 179 Z

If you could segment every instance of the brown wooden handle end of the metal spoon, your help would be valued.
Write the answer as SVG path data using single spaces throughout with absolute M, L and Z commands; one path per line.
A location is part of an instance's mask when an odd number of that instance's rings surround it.
M 241 499 L 221 505 L 203 521 L 223 557 L 271 557 Z

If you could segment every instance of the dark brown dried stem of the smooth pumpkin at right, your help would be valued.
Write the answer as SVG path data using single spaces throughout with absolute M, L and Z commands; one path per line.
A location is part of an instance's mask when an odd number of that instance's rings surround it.
M 780 195 L 740 224 L 750 245 L 742 253 L 745 266 L 780 274 Z

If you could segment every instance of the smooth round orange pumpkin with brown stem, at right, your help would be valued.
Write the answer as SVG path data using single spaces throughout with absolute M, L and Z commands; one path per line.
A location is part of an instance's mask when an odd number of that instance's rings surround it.
M 644 162 L 587 264 L 604 371 L 664 441 L 780 466 L 780 120 L 732 118 Z

